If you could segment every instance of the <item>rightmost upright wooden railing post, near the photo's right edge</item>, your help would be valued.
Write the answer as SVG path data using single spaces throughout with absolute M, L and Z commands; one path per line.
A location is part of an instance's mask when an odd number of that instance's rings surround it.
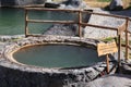
M 129 25 L 129 18 L 126 20 L 126 61 L 129 59 L 129 38 L 128 38 L 128 25 Z

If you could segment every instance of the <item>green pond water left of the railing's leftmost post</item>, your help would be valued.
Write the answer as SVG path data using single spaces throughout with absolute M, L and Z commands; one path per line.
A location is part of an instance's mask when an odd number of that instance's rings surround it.
M 0 9 L 0 35 L 24 33 L 24 13 L 22 9 Z

